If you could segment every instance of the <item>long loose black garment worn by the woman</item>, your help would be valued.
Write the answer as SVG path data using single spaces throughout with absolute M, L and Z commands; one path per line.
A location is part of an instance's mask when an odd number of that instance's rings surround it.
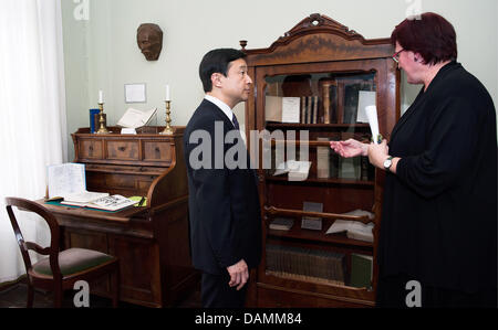
M 380 276 L 475 292 L 497 287 L 497 130 L 492 99 L 445 65 L 393 129 Z

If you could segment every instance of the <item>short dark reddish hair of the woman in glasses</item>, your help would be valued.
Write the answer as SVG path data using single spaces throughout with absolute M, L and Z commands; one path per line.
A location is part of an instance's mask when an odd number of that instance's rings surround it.
M 391 42 L 393 45 L 398 42 L 404 50 L 419 53 L 426 64 L 456 60 L 458 55 L 455 29 L 434 12 L 404 20 L 394 29 Z

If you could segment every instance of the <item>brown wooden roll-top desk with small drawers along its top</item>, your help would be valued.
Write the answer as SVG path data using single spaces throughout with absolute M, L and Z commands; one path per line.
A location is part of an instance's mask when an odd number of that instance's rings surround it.
M 85 247 L 115 255 L 121 267 L 121 300 L 166 307 L 193 289 L 188 238 L 188 189 L 183 156 L 184 127 L 159 135 L 145 127 L 137 135 L 72 135 L 74 162 L 84 163 L 86 189 L 147 198 L 147 205 L 115 213 L 44 204 L 62 226 L 64 248 Z M 91 286 L 107 296 L 108 281 Z

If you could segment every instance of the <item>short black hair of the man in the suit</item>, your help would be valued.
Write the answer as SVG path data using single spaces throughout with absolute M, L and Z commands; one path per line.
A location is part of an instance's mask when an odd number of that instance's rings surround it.
M 203 82 L 204 92 L 211 92 L 211 75 L 220 73 L 227 76 L 229 64 L 232 61 L 245 58 L 246 53 L 234 49 L 218 49 L 204 55 L 199 65 L 199 76 Z

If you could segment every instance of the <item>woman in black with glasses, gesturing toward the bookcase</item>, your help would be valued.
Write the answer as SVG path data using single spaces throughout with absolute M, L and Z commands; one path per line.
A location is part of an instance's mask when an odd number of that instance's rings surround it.
M 391 140 L 331 142 L 385 170 L 378 307 L 497 306 L 497 130 L 492 99 L 456 62 L 453 25 L 435 13 L 403 21 L 393 60 L 423 84 Z M 413 283 L 412 283 L 413 284 Z M 408 301 L 408 302 L 407 302 Z

